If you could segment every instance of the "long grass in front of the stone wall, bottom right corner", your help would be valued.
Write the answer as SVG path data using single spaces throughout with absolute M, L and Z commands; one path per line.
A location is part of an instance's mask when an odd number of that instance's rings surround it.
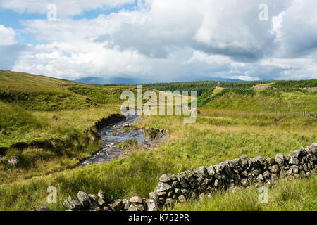
M 208 198 L 178 204 L 178 211 L 316 211 L 317 178 L 281 180 L 268 189 L 268 203 L 259 203 L 258 188 L 238 188 L 234 192 L 217 191 Z

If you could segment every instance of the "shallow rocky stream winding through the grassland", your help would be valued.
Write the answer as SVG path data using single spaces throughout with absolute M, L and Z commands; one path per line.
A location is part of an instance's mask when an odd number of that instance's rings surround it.
M 139 116 L 130 113 L 126 119 L 115 124 L 108 125 L 101 129 L 101 138 L 104 141 L 102 150 L 85 159 L 80 165 L 90 165 L 99 162 L 110 162 L 113 159 L 124 155 L 123 150 L 118 148 L 119 143 L 124 143 L 128 139 L 136 140 L 143 148 L 149 149 L 151 145 L 144 139 L 144 132 L 141 129 L 132 129 L 132 124 L 139 121 Z M 128 131 L 130 130 L 130 131 Z

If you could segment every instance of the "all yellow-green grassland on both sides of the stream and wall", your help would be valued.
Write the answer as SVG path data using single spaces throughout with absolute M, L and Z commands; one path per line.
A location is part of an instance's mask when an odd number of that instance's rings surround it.
M 108 164 L 77 167 L 80 159 L 101 148 L 92 136 L 87 142 L 85 131 L 119 112 L 120 91 L 126 89 L 135 90 L 0 71 L 0 146 L 52 139 L 61 145 L 58 151 L 30 148 L 21 153 L 12 148 L 1 158 L 0 210 L 32 210 L 46 202 L 49 186 L 58 190 L 58 203 L 49 205 L 52 210 L 66 210 L 63 200 L 78 191 L 97 194 L 102 189 L 114 198 L 148 198 L 164 173 L 209 167 L 242 155 L 274 157 L 316 143 L 316 120 L 292 114 L 316 112 L 316 93 L 210 86 L 211 91 L 197 99 L 201 110 L 197 122 L 150 116 L 137 124 L 168 130 L 170 141 L 159 148 L 136 149 Z M 52 107 L 54 101 L 57 108 Z M 14 155 L 20 164 L 10 167 L 6 161 Z M 254 187 L 242 188 L 235 194 L 189 201 L 175 210 L 316 210 L 316 188 L 314 178 L 287 181 L 270 190 L 271 205 L 256 203 Z M 249 197 L 243 198 L 246 194 Z

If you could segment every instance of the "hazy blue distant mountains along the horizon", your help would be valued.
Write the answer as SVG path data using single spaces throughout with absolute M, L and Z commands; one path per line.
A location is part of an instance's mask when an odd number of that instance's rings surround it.
M 169 82 L 199 82 L 199 81 L 220 81 L 220 82 L 243 82 L 241 79 L 229 79 L 229 78 L 201 78 L 201 79 L 180 79 L 180 80 L 170 80 Z M 135 85 L 135 84 L 151 84 L 151 83 L 161 83 L 158 80 L 150 79 L 139 79 L 133 77 L 112 77 L 112 78 L 102 78 L 102 77 L 82 77 L 76 79 L 75 82 L 83 84 L 95 84 L 95 85 L 104 85 L 104 84 L 125 84 L 125 85 Z M 166 82 L 166 81 L 165 81 Z

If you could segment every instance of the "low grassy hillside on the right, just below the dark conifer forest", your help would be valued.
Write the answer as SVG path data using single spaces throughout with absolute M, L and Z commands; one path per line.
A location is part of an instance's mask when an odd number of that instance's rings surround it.
M 197 99 L 197 105 L 225 112 L 316 112 L 317 93 L 254 89 L 224 89 L 215 93 L 211 90 Z

